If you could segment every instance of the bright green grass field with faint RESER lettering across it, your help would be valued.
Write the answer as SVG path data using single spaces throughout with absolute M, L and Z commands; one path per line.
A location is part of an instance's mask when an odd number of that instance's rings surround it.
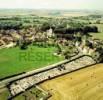
M 55 47 L 29 46 L 27 50 L 18 47 L 0 50 L 0 78 L 31 71 L 61 61 L 53 55 Z

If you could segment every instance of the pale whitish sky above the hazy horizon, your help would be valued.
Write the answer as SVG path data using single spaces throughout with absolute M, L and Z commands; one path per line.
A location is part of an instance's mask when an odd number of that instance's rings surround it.
M 0 0 L 0 8 L 103 10 L 103 0 Z

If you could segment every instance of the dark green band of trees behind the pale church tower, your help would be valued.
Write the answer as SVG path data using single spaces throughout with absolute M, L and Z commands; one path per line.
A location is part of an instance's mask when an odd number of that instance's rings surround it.
M 69 26 L 69 27 L 68 27 Z M 54 33 L 57 34 L 73 34 L 73 33 L 84 33 L 87 34 L 89 32 L 93 32 L 93 33 L 97 33 L 98 32 L 98 28 L 96 26 L 88 26 L 88 25 L 82 25 L 80 23 L 75 23 L 75 25 L 72 24 L 68 24 L 67 26 L 64 24 L 60 24 L 60 25 L 52 25 L 51 23 L 44 23 L 41 26 L 41 31 L 46 31 L 48 29 L 52 28 Z

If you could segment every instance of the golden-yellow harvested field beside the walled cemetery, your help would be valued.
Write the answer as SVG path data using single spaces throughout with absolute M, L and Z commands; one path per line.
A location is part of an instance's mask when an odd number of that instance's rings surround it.
M 103 100 L 103 64 L 52 79 L 40 85 L 49 100 Z

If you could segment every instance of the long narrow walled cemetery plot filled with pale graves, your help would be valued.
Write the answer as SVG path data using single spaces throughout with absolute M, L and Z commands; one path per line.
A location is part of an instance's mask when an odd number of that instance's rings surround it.
M 39 84 L 43 81 L 76 71 L 78 69 L 88 67 L 96 62 L 89 56 L 81 56 L 70 62 L 56 65 L 53 68 L 40 71 L 39 73 L 17 80 L 9 85 L 12 96 L 16 96 L 33 85 Z

